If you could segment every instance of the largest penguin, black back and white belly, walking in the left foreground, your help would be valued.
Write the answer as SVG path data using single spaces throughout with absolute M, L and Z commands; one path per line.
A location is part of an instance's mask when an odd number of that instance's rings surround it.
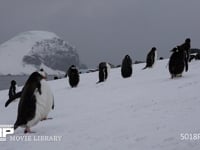
M 30 127 L 47 119 L 49 111 L 54 108 L 53 93 L 43 76 L 38 72 L 33 72 L 22 91 L 9 99 L 5 107 L 17 97 L 20 97 L 20 101 L 14 129 L 23 127 L 24 133 L 31 133 Z

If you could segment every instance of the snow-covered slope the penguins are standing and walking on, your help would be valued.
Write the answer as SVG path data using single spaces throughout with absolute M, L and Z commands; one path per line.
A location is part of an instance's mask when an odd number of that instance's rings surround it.
M 155 68 L 133 66 L 123 79 L 112 69 L 105 83 L 98 73 L 82 74 L 77 88 L 67 79 L 49 82 L 55 110 L 53 120 L 32 128 L 26 136 L 62 136 L 60 142 L 0 142 L 10 149 L 68 150 L 199 150 L 199 140 L 181 140 L 181 134 L 200 133 L 200 62 L 192 62 L 182 78 L 170 79 L 167 60 Z M 17 102 L 4 108 L 7 90 L 0 92 L 0 124 L 13 124 Z M 15 136 L 23 134 L 17 129 Z

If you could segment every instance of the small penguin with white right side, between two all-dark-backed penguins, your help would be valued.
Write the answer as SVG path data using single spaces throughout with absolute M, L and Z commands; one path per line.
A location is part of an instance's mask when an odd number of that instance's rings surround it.
M 108 72 L 110 70 L 110 65 L 106 62 L 99 63 L 99 81 L 104 82 L 108 78 Z

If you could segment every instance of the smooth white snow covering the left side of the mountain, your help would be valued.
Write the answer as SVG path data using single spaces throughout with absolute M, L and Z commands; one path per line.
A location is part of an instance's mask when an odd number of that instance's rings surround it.
M 0 74 L 24 74 L 35 70 L 36 68 L 30 65 L 25 68 L 23 56 L 31 50 L 35 42 L 52 36 L 57 37 L 50 32 L 29 31 L 0 45 Z

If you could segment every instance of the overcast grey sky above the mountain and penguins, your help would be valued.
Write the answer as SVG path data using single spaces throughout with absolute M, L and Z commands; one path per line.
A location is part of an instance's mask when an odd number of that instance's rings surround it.
M 29 30 L 56 33 L 88 66 L 144 60 L 155 46 L 169 57 L 191 38 L 200 48 L 200 0 L 0 0 L 0 43 Z

